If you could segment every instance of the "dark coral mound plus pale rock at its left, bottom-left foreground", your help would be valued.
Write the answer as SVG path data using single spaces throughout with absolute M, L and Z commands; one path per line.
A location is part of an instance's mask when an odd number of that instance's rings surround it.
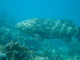
M 29 60 L 32 59 L 33 51 L 28 47 L 16 43 L 9 43 L 5 46 L 5 52 L 0 53 L 1 60 Z

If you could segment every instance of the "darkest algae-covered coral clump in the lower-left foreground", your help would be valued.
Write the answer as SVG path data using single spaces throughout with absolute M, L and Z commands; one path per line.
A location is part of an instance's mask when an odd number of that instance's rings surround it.
M 28 47 L 20 46 L 18 43 L 9 43 L 6 46 L 6 59 L 28 60 Z

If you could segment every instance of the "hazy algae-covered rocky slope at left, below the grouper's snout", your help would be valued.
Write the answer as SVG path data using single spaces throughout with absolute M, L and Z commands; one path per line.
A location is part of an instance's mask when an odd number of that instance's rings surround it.
M 24 40 L 25 35 L 16 29 L 11 29 L 8 27 L 0 27 L 0 44 L 6 45 L 11 40 L 13 42 Z M 22 41 L 21 41 L 22 43 Z

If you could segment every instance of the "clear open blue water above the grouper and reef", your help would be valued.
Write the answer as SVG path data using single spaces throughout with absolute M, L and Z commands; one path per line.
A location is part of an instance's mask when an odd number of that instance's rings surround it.
M 16 20 L 35 17 L 71 19 L 80 25 L 79 0 L 0 0 L 0 9 Z

